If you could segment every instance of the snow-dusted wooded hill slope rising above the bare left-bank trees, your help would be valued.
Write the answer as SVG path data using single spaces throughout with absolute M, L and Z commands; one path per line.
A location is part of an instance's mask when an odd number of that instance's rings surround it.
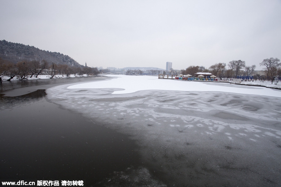
M 58 52 L 40 50 L 34 46 L 12 43 L 6 40 L 0 40 L 0 57 L 3 60 L 8 60 L 17 63 L 22 60 L 47 60 L 49 63 L 66 64 L 70 66 L 82 66 L 68 55 L 63 55 Z

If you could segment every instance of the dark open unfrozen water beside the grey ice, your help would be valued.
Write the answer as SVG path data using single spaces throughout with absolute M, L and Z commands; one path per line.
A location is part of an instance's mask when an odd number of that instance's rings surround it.
M 95 186 L 113 171 L 140 165 L 135 141 L 45 96 L 44 89 L 0 96 L 1 181 L 83 180 Z

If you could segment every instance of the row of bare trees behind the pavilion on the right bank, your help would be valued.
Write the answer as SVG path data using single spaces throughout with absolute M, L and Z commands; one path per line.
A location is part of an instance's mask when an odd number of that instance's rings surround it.
M 265 66 L 263 69 L 266 71 L 267 74 L 264 77 L 264 79 L 273 81 L 274 77 L 281 76 L 281 63 L 279 63 L 279 61 L 280 60 L 278 58 L 269 58 L 269 59 L 264 59 L 259 64 L 260 66 L 263 67 Z M 252 75 L 255 68 L 256 65 L 246 66 L 245 61 L 232 60 L 228 64 L 217 63 L 211 65 L 209 69 L 206 69 L 204 66 L 189 66 L 185 70 L 184 69 L 181 70 L 180 73 L 194 75 L 197 72 L 210 72 L 219 78 L 236 78 L 239 75 L 246 75 L 246 76 Z

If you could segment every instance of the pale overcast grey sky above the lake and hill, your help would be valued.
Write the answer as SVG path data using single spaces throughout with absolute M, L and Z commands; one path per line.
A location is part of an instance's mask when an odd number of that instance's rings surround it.
M 0 40 L 91 67 L 281 59 L 281 0 L 0 0 Z

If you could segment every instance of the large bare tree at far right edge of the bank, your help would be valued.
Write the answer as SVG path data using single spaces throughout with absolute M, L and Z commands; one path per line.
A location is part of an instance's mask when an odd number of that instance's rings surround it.
M 278 75 L 279 67 L 281 66 L 281 63 L 278 63 L 280 60 L 278 58 L 270 58 L 270 59 L 264 59 L 261 63 L 259 63 L 260 66 L 264 65 L 265 70 L 267 70 L 267 78 L 271 79 L 271 84 L 273 84 L 274 77 Z

